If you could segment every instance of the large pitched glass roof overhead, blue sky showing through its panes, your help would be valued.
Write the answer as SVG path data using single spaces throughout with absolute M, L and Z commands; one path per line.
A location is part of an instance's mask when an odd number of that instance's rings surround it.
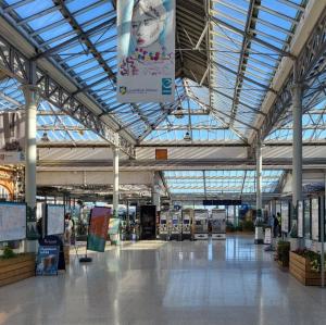
M 289 49 L 306 2 L 264 0 L 252 8 L 253 1 L 249 0 L 210 0 L 209 73 L 192 72 L 189 63 L 177 66 L 184 72 L 190 71 L 191 78 L 183 73 L 183 78 L 177 76 L 176 98 L 171 104 L 121 104 L 116 101 L 114 1 L 66 0 L 55 5 L 52 0 L 5 0 L 1 1 L 1 8 L 4 17 L 28 35 L 38 52 L 64 71 L 82 91 L 91 96 L 103 114 L 128 130 L 135 140 L 184 141 L 188 132 L 192 141 L 242 142 L 252 132 L 258 115 L 262 114 L 262 101 Z M 185 34 L 188 37 L 197 35 L 195 24 L 179 26 L 179 18 L 177 12 L 177 34 L 181 39 Z M 179 49 L 183 50 L 184 57 L 192 58 L 189 62 L 193 62 L 196 51 Z M 204 64 L 203 68 L 206 66 Z M 2 84 L 3 80 L 0 87 Z M 9 96 L 17 102 L 8 101 L 5 92 L 1 91 L 0 109 L 23 103 L 22 93 L 13 89 L 16 89 L 14 85 L 9 87 Z M 174 114 L 178 107 L 185 111 L 183 118 Z M 62 125 L 67 121 L 66 127 L 72 128 L 73 120 L 62 116 L 60 120 Z M 47 121 L 50 120 L 39 118 L 40 126 L 45 127 Z M 70 133 L 76 138 L 83 137 L 79 130 L 65 134 Z M 49 132 L 49 136 L 52 137 L 52 133 Z

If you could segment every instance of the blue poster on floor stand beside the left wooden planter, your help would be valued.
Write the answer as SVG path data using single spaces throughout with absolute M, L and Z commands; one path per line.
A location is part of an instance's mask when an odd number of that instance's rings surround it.
M 58 275 L 59 246 L 39 246 L 36 275 Z

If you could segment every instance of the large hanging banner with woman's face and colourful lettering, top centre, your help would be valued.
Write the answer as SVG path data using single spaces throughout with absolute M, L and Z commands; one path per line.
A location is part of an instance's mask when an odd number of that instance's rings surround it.
M 117 1 L 120 102 L 172 102 L 175 0 Z

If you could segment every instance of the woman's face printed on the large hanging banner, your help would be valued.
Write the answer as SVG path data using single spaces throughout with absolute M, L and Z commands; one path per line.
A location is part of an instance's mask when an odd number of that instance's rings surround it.
M 145 12 L 140 5 L 137 5 L 134 9 L 131 27 L 137 47 L 147 48 L 158 41 L 164 23 L 153 12 Z

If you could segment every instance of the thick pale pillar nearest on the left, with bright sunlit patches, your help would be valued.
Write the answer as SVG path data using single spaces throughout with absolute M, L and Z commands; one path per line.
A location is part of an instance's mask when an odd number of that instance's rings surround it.
M 25 97 L 25 202 L 27 203 L 27 241 L 24 250 L 36 252 L 36 133 L 38 95 L 35 87 L 23 86 Z

